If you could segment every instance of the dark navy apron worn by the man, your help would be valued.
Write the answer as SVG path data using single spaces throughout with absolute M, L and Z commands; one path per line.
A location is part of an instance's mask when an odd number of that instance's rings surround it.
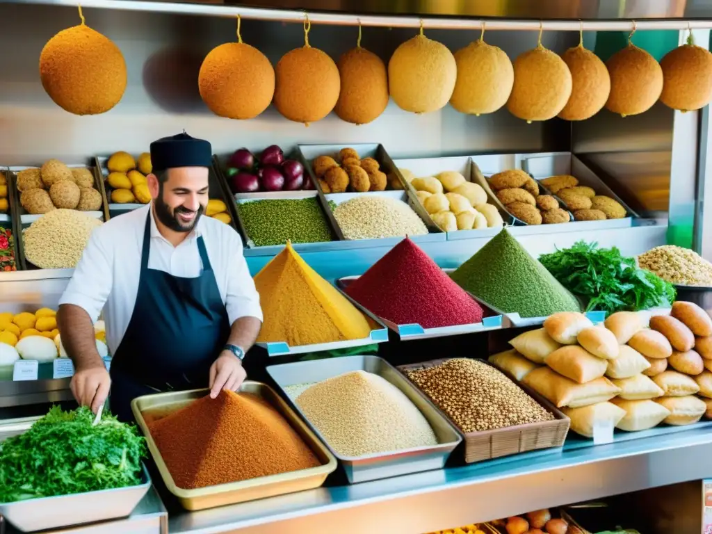
M 134 421 L 131 401 L 141 395 L 207 387 L 209 370 L 230 333 L 202 236 L 203 270 L 197 278 L 148 268 L 151 212 L 146 219 L 136 305 L 112 357 L 110 407 L 120 421 Z

